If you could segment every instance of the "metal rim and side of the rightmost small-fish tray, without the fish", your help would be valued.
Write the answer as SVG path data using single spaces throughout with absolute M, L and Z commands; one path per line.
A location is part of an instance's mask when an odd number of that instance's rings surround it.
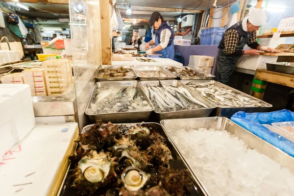
M 252 113 L 252 112 L 266 112 L 269 108 L 272 107 L 272 105 L 270 103 L 267 103 L 263 100 L 260 100 L 258 98 L 254 98 L 252 96 L 249 96 L 241 91 L 238 91 L 232 87 L 229 87 L 227 85 L 224 85 L 220 82 L 217 82 L 215 80 L 181 80 L 181 82 L 183 84 L 198 84 L 198 83 L 212 83 L 212 84 L 217 84 L 219 85 L 220 87 L 222 88 L 226 88 L 232 92 L 235 92 L 235 93 L 239 93 L 241 96 L 244 96 L 244 97 L 248 97 L 248 98 L 251 98 L 253 100 L 257 100 L 259 101 L 260 103 L 264 104 L 265 106 L 261 106 L 261 107 L 234 107 L 234 106 L 220 106 L 220 105 L 217 105 L 217 109 L 215 112 L 213 112 L 213 114 L 215 114 L 215 116 L 221 116 L 221 117 L 227 117 L 227 118 L 230 118 L 231 116 L 233 116 L 236 112 L 239 112 L 239 111 L 244 111 L 244 112 L 247 112 L 247 113 Z M 187 86 L 187 85 L 186 85 Z M 189 85 L 187 86 L 188 88 Z M 193 88 L 190 88 L 191 90 L 193 90 Z M 194 91 L 194 90 L 193 90 Z M 196 91 L 195 91 L 196 92 Z M 197 93 L 197 92 L 196 92 Z M 199 94 L 201 95 L 201 94 Z M 203 97 L 205 98 L 205 97 Z M 209 100 L 209 99 L 208 99 Z

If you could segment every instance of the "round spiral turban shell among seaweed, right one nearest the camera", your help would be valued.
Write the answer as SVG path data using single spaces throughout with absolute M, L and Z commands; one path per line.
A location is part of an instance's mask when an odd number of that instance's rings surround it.
M 124 187 L 128 191 L 138 191 L 144 187 L 149 178 L 149 173 L 145 173 L 142 170 L 133 167 L 126 168 L 122 174 Z

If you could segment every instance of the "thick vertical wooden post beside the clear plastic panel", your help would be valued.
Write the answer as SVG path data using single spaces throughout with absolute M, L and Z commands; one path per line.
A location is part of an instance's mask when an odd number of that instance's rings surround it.
M 102 64 L 110 65 L 111 38 L 110 38 L 109 0 L 100 0 L 99 4 L 100 4 Z

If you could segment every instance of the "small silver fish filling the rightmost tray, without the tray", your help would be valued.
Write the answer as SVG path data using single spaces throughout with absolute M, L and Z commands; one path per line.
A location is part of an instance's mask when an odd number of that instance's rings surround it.
M 224 107 L 262 107 L 268 106 L 263 101 L 242 95 L 215 83 L 186 84 L 188 87 L 209 99 L 217 106 Z

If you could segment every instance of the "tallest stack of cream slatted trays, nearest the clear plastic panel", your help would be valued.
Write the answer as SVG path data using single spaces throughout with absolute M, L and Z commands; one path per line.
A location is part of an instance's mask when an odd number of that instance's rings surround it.
M 73 84 L 72 69 L 69 60 L 54 59 L 44 61 L 43 66 L 48 96 L 59 96 Z

